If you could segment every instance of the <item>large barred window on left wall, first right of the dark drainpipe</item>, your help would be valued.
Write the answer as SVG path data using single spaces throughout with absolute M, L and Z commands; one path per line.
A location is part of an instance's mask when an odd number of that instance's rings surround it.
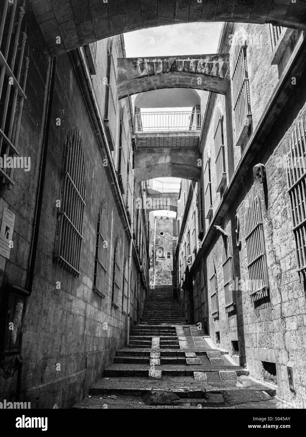
M 85 160 L 79 129 L 66 139 L 55 257 L 72 274 L 79 276 L 86 194 Z

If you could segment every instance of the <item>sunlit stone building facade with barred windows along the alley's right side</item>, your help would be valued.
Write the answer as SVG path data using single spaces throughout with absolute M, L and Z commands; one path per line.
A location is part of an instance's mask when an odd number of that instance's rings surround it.
M 230 86 L 208 99 L 201 178 L 181 200 L 176 250 L 186 314 L 297 403 L 306 400 L 303 47 L 303 31 L 225 24 Z

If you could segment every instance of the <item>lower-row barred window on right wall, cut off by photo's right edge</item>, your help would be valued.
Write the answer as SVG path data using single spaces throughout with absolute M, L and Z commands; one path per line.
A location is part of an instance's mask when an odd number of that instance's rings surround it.
M 287 185 L 299 281 L 306 280 L 306 132 L 301 118 L 295 125 L 286 156 Z

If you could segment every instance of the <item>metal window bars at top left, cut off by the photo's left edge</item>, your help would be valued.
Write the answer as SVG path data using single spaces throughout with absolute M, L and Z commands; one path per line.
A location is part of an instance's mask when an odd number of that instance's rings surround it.
M 5 0 L 0 21 L 0 156 L 3 163 L 0 166 L 0 182 L 8 189 L 14 185 L 15 162 L 16 166 L 20 165 L 17 144 L 29 66 L 29 57 L 24 59 L 26 26 L 21 31 L 25 0 L 19 7 L 19 13 L 18 3 L 17 0 Z M 13 162 L 10 168 L 7 168 L 8 158 Z

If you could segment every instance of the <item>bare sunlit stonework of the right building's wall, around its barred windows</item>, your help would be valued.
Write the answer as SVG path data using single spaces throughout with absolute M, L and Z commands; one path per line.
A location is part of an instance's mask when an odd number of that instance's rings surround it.
M 259 29 L 258 29 L 259 28 Z M 248 69 L 251 90 L 251 108 L 253 126 L 261 118 L 268 99 L 272 95 L 278 81 L 277 66 L 270 66 L 271 52 L 265 38 L 266 28 L 251 25 L 250 33 L 258 29 L 263 35 L 264 48 L 248 47 Z M 292 47 L 291 47 L 292 50 Z M 271 62 L 271 61 L 270 61 Z M 210 253 L 217 270 L 219 317 L 213 320 L 210 316 L 210 335 L 214 339 L 215 333 L 220 332 L 220 347 L 232 350 L 231 342 L 238 340 L 241 364 L 247 364 L 255 378 L 263 380 L 262 361 L 276 364 L 278 395 L 284 399 L 300 402 L 306 399 L 305 391 L 305 308 L 306 299 L 303 284 L 299 284 L 296 271 L 296 256 L 293 242 L 292 223 L 289 209 L 289 195 L 284 168 L 284 155 L 289 151 L 289 137 L 294 123 L 302 115 L 305 117 L 306 89 L 302 78 L 297 85 L 292 85 L 290 101 L 287 102 L 277 123 L 262 144 L 253 164 L 264 163 L 267 181 L 255 184 L 252 170 L 243 173 L 241 191 L 237 192 L 237 199 L 230 205 L 230 212 L 223 216 L 220 225 L 232 238 L 234 278 L 239 287 L 236 291 L 236 311 L 225 313 L 224 281 L 222 273 L 222 238 L 220 232 L 215 233 L 212 244 L 201 260 L 197 271 L 206 269 L 206 284 L 209 287 L 207 260 Z M 224 99 L 224 97 L 221 97 Z M 219 103 L 220 97 L 217 99 Z M 227 106 L 228 108 L 228 106 Z M 228 111 L 226 117 L 230 115 Z M 225 123 L 225 125 L 228 125 Z M 225 127 L 224 125 L 224 127 Z M 225 143 L 227 143 L 224 129 Z M 211 145 L 211 127 L 207 137 L 207 146 Z M 228 146 L 227 146 L 228 147 Z M 234 149 L 235 167 L 241 157 L 241 150 Z M 280 164 L 282 163 L 282 164 Z M 228 166 L 228 163 L 227 163 Z M 228 167 L 227 167 L 228 168 Z M 212 188 L 215 185 L 215 170 L 211 164 Z M 227 173 L 228 177 L 228 173 Z M 219 205 L 219 199 L 213 188 L 213 208 Z M 265 299 L 254 304 L 251 302 L 248 287 L 248 262 L 245 244 L 244 213 L 248 196 L 260 196 L 263 216 L 265 250 L 268 265 L 270 286 L 270 300 Z M 240 215 L 241 251 L 235 244 L 236 221 L 235 214 Z M 208 222 L 206 221 L 206 225 Z M 210 293 L 209 293 L 210 294 Z M 209 300 L 209 312 L 211 303 Z M 293 368 L 296 395 L 289 390 L 287 365 Z

